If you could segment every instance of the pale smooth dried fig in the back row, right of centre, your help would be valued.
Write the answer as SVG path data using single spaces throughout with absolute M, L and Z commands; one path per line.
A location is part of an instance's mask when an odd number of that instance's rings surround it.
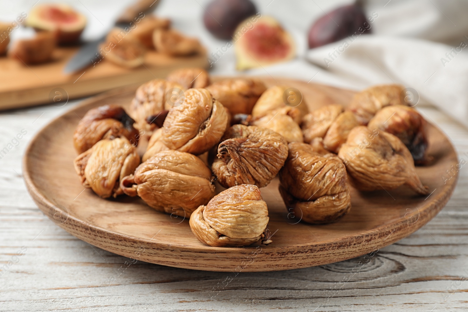
M 266 89 L 252 109 L 252 116 L 254 118 L 261 118 L 269 114 L 279 113 L 291 116 L 294 122 L 300 125 L 303 116 L 309 112 L 307 103 L 302 99 L 302 102 L 298 106 L 291 107 L 286 105 L 284 97 L 287 89 L 289 89 L 287 86 L 273 86 Z

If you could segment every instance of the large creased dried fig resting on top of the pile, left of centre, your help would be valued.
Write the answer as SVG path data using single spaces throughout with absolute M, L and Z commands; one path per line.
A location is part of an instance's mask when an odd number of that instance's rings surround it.
M 169 110 L 161 142 L 171 150 L 202 154 L 219 143 L 228 126 L 224 106 L 206 89 L 188 89 L 184 102 Z

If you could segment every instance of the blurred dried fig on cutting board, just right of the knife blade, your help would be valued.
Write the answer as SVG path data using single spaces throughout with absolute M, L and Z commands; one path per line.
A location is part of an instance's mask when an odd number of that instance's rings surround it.
M 145 48 L 124 29 L 112 29 L 99 47 L 101 56 L 116 65 L 134 68 L 144 62 Z

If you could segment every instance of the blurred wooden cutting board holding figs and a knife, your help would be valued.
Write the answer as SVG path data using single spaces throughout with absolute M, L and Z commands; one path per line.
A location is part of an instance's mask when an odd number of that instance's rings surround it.
M 206 68 L 208 65 L 206 53 L 174 58 L 148 51 L 144 65 L 138 68 L 127 69 L 103 58 L 95 66 L 91 65 L 78 73 L 62 73 L 65 64 L 78 49 L 59 48 L 54 51 L 53 61 L 41 65 L 25 65 L 21 61 L 0 57 L 0 109 L 64 103 L 112 88 L 164 78 L 176 68 Z

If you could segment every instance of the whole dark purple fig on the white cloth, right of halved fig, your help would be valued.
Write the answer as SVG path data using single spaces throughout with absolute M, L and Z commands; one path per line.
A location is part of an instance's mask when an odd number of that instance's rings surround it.
M 363 9 L 358 5 L 348 5 L 323 15 L 309 30 L 309 48 L 325 44 L 353 35 L 370 32 L 370 24 L 366 20 Z

